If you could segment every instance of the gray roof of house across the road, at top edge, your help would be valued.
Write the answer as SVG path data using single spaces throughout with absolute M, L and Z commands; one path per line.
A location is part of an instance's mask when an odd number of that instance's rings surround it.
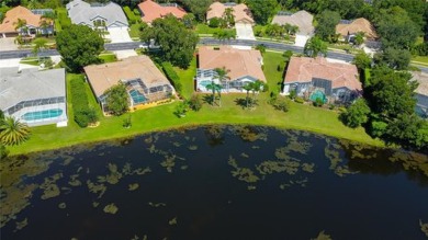
M 97 19 L 105 20 L 108 27 L 113 25 L 128 26 L 125 13 L 122 8 L 114 3 L 91 5 L 82 0 L 74 0 L 67 3 L 68 15 L 75 24 L 85 24 L 93 27 Z

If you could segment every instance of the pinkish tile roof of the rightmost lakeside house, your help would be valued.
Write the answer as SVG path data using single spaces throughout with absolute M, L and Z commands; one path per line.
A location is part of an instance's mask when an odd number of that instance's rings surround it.
M 311 82 L 313 78 L 331 81 L 333 89 L 362 91 L 354 65 L 328 62 L 326 58 L 291 57 L 284 83 Z

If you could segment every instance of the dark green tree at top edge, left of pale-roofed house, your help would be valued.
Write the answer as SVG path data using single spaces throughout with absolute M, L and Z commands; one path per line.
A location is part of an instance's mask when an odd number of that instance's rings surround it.
M 267 24 L 269 19 L 275 13 L 277 0 L 247 0 L 255 21 L 259 24 Z

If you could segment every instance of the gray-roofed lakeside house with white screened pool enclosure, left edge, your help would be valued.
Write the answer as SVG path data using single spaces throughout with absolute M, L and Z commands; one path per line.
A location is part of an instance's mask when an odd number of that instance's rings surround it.
M 66 71 L 0 68 L 0 108 L 29 126 L 67 126 Z

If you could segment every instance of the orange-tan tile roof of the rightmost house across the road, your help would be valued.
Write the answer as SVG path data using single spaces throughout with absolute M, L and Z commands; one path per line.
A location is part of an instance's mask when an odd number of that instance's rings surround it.
M 363 32 L 365 34 L 365 37 L 369 39 L 378 37 L 373 25 L 364 18 L 356 19 L 349 24 L 339 23 L 336 25 L 336 33 L 342 36 L 347 36 L 348 34 L 354 34 L 358 32 Z

